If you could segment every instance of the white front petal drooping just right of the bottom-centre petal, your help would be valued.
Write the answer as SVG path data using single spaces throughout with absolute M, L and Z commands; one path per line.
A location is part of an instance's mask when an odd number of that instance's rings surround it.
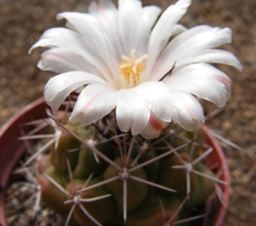
M 148 108 L 165 122 L 171 122 L 177 115 L 175 105 L 173 104 L 172 94 L 162 82 L 149 81 L 137 85 L 133 88 L 137 92 Z

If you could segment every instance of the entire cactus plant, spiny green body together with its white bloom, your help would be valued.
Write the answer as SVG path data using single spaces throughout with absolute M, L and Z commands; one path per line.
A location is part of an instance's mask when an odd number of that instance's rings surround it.
M 42 196 L 66 225 L 182 223 L 224 183 L 205 163 L 199 98 L 224 107 L 230 78 L 209 63 L 241 64 L 215 49 L 230 43 L 230 28 L 177 24 L 190 3 L 161 14 L 138 0 L 119 9 L 100 0 L 89 14 L 58 14 L 67 28 L 32 46 L 49 48 L 38 67 L 60 73 L 45 101 L 67 104 L 45 120 L 52 140 L 37 161 Z

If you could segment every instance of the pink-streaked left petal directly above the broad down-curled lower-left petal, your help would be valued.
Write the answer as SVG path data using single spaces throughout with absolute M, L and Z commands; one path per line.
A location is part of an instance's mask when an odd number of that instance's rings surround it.
M 96 68 L 86 61 L 81 55 L 69 49 L 53 48 L 41 55 L 38 67 L 43 71 L 72 72 L 84 71 L 101 76 Z

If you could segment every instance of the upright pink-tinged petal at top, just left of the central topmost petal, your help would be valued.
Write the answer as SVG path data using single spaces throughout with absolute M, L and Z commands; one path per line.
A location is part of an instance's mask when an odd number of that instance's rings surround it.
M 100 0 L 99 3 L 90 3 L 89 13 L 99 20 L 108 34 L 108 39 L 113 41 L 116 50 L 117 59 L 121 61 L 121 55 L 124 53 L 121 46 L 118 33 L 118 10 L 115 4 L 109 0 Z

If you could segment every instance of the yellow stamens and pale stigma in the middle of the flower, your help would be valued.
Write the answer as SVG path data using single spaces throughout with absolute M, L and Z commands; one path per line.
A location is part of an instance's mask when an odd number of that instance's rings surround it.
M 136 50 L 131 49 L 131 58 L 122 55 L 124 62 L 119 63 L 119 73 L 125 78 L 125 88 L 131 88 L 140 84 L 142 72 L 146 66 L 144 62 L 148 55 L 142 55 L 137 58 Z

